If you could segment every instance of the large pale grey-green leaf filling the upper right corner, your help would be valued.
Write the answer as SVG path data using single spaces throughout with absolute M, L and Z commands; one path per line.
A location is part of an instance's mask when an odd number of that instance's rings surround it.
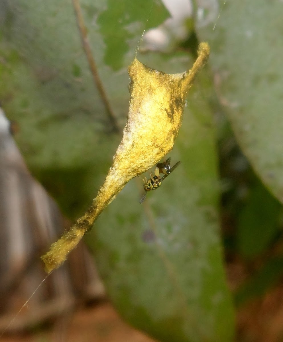
M 198 32 L 211 45 L 220 102 L 254 170 L 283 202 L 283 3 L 229 0 L 219 11 Z

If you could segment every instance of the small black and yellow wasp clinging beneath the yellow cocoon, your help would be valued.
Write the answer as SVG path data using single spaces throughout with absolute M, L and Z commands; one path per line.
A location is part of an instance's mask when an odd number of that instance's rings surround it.
M 146 195 L 149 191 L 157 189 L 160 185 L 161 182 L 169 176 L 169 174 L 176 169 L 176 167 L 180 164 L 180 161 L 178 161 L 172 168 L 170 167 L 170 161 L 171 158 L 169 157 L 164 161 L 164 163 L 158 163 L 156 165 L 156 168 L 154 170 L 154 175 L 150 173 L 150 178 L 147 180 L 146 178 L 143 179 L 144 181 L 144 189 L 145 189 L 145 194 L 142 197 L 142 199 L 139 201 L 139 203 L 143 203 L 143 201 L 146 198 Z M 160 174 L 163 173 L 164 176 L 161 178 Z

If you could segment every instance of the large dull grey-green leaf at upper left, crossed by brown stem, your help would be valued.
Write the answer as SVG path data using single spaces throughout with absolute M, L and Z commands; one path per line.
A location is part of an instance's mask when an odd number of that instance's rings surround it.
M 127 21 L 119 29 L 114 29 L 117 22 L 111 15 L 107 22 L 100 20 L 100 27 L 93 25 L 97 16 L 108 13 L 105 1 L 83 0 L 81 6 L 98 73 L 117 124 L 123 127 L 130 99 L 127 66 L 151 6 L 146 7 L 144 1 L 135 5 L 129 0 L 119 5 L 110 1 L 107 6 L 125 10 Z M 108 8 L 112 14 L 112 7 Z M 160 23 L 165 13 L 160 2 L 154 1 L 151 25 Z M 105 52 L 105 36 L 99 30 L 107 24 L 112 39 Z M 32 173 L 74 219 L 102 183 L 121 135 L 113 132 L 94 86 L 72 2 L 38 1 L 35 6 L 31 0 L 1 1 L 0 32 L 1 101 L 8 118 L 19 124 L 17 143 Z M 120 42 L 123 39 L 123 51 L 114 44 L 117 34 Z M 117 61 L 119 73 L 109 70 L 104 56 Z M 55 173 L 62 177 L 51 176 Z

